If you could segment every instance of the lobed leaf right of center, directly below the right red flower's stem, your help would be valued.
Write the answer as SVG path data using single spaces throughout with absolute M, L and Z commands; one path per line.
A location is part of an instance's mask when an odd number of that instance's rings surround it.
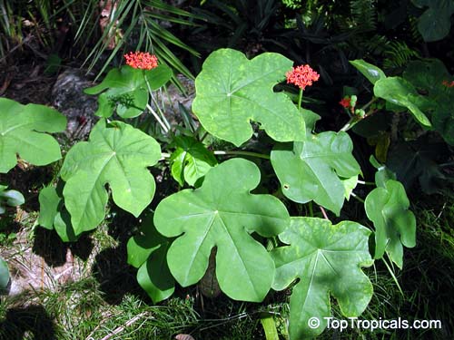
M 360 174 L 346 132 L 322 132 L 307 141 L 275 147 L 271 164 L 289 199 L 306 203 L 314 200 L 339 215 L 345 196 L 341 178 Z

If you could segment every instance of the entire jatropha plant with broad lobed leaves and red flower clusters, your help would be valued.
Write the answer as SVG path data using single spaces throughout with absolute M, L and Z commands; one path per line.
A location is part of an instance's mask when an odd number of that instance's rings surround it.
M 172 296 L 175 281 L 182 287 L 199 282 L 213 257 L 219 287 L 232 299 L 261 302 L 271 289 L 287 289 L 299 280 L 291 288 L 291 339 L 321 334 L 331 316 L 330 295 L 344 316 L 360 316 L 372 296 L 370 279 L 361 268 L 370 267 L 374 259 L 385 260 L 385 255 L 402 267 L 403 247 L 415 245 L 415 219 L 405 190 L 373 157 L 377 188 L 365 198 L 364 208 L 374 229 L 349 220 L 333 225 L 328 219 L 326 210 L 340 216 L 345 199 L 358 198 L 357 185 L 369 184 L 360 180 L 347 131 L 380 108 L 358 108 L 356 98 L 347 96 L 341 100 L 350 115 L 346 126 L 316 133 L 320 116 L 301 106 L 303 90 L 319 80 L 309 65 L 293 68 L 279 53 L 249 60 L 238 51 L 221 49 L 206 59 L 195 80 L 192 114 L 200 126 L 177 127 L 156 100 L 156 92 L 173 76 L 171 69 L 150 53 L 128 53 L 125 59 L 126 65 L 85 90 L 98 95 L 100 121 L 88 141 L 68 151 L 57 185 L 41 190 L 40 225 L 55 229 L 64 241 L 74 241 L 103 222 L 110 194 L 118 207 L 138 218 L 155 191 L 148 168 L 164 161 L 180 189 L 153 204 L 153 214 L 143 216 L 141 232 L 127 245 L 128 261 L 138 268 L 137 279 L 153 302 Z M 396 93 L 385 93 L 380 82 L 399 80 L 363 61 L 352 64 L 375 83 L 377 98 L 395 100 Z M 299 87 L 296 103 L 290 93 L 274 90 L 285 80 Z M 399 103 L 405 106 L 405 93 L 400 94 Z M 413 104 L 405 107 L 421 124 L 430 124 Z M 39 121 L 39 114 L 32 119 L 31 110 L 51 119 Z M 0 100 L 0 114 L 0 145 L 7 146 L 0 152 L 0 164 L 6 164 L 1 170 L 15 165 L 16 153 L 38 165 L 61 157 L 50 148 L 51 137 L 38 133 L 61 131 L 64 118 L 58 113 Z M 132 125 L 132 119 L 143 114 L 149 114 L 143 121 L 156 121 L 165 150 L 148 130 L 134 127 L 137 120 Z M 34 158 L 18 142 L 32 130 L 36 141 L 50 148 L 40 149 L 47 150 L 42 162 L 35 160 L 40 154 Z M 248 141 L 262 131 L 273 141 L 271 151 L 248 151 Z M 213 151 L 210 141 L 215 139 L 240 150 Z M 252 162 L 254 157 L 271 164 L 281 195 L 263 193 L 263 188 L 252 193 L 262 181 L 257 165 L 262 163 Z M 287 199 L 304 205 L 306 216 L 291 216 L 283 203 Z M 323 219 L 314 217 L 314 206 Z M 267 240 L 271 250 L 265 247 Z M 320 320 L 318 327 L 308 325 L 313 317 Z

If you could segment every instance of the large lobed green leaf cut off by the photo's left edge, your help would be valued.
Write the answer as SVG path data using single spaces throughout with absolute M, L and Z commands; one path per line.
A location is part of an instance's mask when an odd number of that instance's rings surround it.
M 0 173 L 15 167 L 17 154 L 34 165 L 61 159 L 58 142 L 43 132 L 65 128 L 66 118 L 54 109 L 0 98 Z

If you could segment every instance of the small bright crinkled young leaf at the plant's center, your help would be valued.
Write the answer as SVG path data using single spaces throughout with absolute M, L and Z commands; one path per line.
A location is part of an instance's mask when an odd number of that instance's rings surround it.
M 183 179 L 194 185 L 197 180 L 217 164 L 211 151 L 195 139 L 187 136 L 175 137 L 176 151 L 170 159 L 172 163 L 172 176 L 183 186 Z

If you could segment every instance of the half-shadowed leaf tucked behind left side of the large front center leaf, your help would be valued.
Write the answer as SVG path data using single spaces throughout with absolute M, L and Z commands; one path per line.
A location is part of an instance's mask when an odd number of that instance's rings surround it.
M 172 239 L 164 238 L 153 225 L 153 215 L 143 219 L 139 234 L 127 244 L 128 263 L 139 268 L 137 281 L 158 303 L 173 295 L 174 279 L 167 266 L 167 251 Z

